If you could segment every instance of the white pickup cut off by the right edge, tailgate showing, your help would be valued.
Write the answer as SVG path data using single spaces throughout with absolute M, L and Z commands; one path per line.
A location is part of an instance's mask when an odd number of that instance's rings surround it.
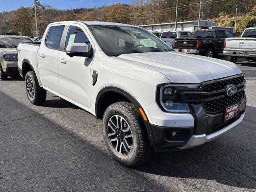
M 246 28 L 240 38 L 226 38 L 223 53 L 234 63 L 239 57 L 256 58 L 256 28 Z

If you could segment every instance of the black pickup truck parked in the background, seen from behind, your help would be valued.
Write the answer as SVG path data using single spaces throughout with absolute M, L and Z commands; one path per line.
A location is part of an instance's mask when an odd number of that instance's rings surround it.
M 225 38 L 233 37 L 228 30 L 197 30 L 193 38 L 176 38 L 174 49 L 178 52 L 215 57 L 223 53 Z

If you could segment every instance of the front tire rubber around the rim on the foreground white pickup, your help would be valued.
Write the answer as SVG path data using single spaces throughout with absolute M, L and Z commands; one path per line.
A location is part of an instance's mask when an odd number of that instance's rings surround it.
M 122 117 L 126 121 L 128 126 L 130 126 L 130 131 L 132 133 L 132 149 L 130 149 L 130 153 L 128 153 L 127 155 L 119 154 L 110 142 L 110 138 L 108 136 L 108 123 L 110 121 L 110 118 L 113 118 L 115 116 Z M 120 124 L 122 124 L 122 121 L 120 121 Z M 125 166 L 137 166 L 150 158 L 152 154 L 152 146 L 150 146 L 150 141 L 146 128 L 144 127 L 144 123 L 142 122 L 142 118 L 138 110 L 132 103 L 117 102 L 111 104 L 104 113 L 102 127 L 103 137 L 110 154 L 121 164 Z M 117 129 L 118 128 L 116 128 L 115 132 L 118 133 Z

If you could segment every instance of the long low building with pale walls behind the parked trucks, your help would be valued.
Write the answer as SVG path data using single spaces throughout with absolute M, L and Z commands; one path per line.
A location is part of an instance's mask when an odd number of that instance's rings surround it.
M 175 30 L 175 22 L 173 23 L 160 23 L 160 24 L 151 24 L 151 25 L 139 25 L 147 30 L 152 31 L 171 31 Z M 188 30 L 191 32 L 195 32 L 198 26 L 198 21 L 183 21 L 177 22 L 177 30 Z M 210 28 L 216 26 L 215 22 L 208 21 L 208 20 L 201 20 L 200 21 L 200 28 Z

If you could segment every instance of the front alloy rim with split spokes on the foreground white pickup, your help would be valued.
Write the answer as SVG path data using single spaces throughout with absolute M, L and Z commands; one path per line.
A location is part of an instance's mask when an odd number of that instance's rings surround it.
M 130 126 L 122 116 L 114 115 L 109 119 L 108 138 L 118 154 L 126 156 L 132 151 L 132 132 Z

